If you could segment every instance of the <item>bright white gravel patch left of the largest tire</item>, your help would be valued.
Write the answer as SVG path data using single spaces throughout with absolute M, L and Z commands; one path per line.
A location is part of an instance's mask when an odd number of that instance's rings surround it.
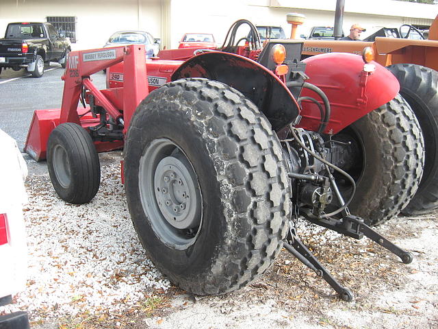
M 28 310 L 38 321 L 37 313 L 117 311 L 170 287 L 138 241 L 119 171 L 102 167 L 99 193 L 81 206 L 60 200 L 47 174 L 29 176 L 27 289 L 0 313 Z

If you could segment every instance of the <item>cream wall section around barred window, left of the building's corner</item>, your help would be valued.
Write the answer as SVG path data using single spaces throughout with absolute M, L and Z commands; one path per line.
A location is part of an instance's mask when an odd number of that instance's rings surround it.
M 155 38 L 162 33 L 160 0 L 0 0 L 0 35 L 15 21 L 46 21 L 47 16 L 77 16 L 73 49 L 102 47 L 123 29 L 140 29 Z

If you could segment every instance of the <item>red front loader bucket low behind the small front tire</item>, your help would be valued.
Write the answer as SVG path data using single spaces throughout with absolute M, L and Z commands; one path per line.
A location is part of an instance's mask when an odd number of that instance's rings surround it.
M 81 126 L 84 128 L 99 124 L 99 117 L 92 117 L 90 108 L 82 109 L 79 114 Z M 78 109 L 79 112 L 79 109 Z M 61 110 L 36 110 L 32 118 L 25 143 L 25 152 L 36 161 L 46 159 L 47 141 L 49 135 L 60 124 Z M 113 151 L 123 148 L 123 141 L 99 142 L 94 141 L 98 152 Z

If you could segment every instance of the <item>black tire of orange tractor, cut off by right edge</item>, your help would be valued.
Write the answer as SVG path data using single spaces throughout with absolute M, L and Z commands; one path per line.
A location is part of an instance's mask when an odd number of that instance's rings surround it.
M 400 95 L 411 106 L 424 136 L 423 178 L 402 210 L 404 215 L 421 215 L 438 208 L 438 72 L 416 64 L 394 64 L 387 69 L 400 82 Z

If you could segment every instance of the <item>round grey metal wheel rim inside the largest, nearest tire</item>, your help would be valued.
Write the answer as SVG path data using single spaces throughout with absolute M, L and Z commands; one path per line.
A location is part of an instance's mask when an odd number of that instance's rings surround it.
M 140 158 L 140 200 L 158 238 L 174 249 L 193 245 L 202 226 L 202 197 L 190 160 L 172 141 L 160 138 Z

